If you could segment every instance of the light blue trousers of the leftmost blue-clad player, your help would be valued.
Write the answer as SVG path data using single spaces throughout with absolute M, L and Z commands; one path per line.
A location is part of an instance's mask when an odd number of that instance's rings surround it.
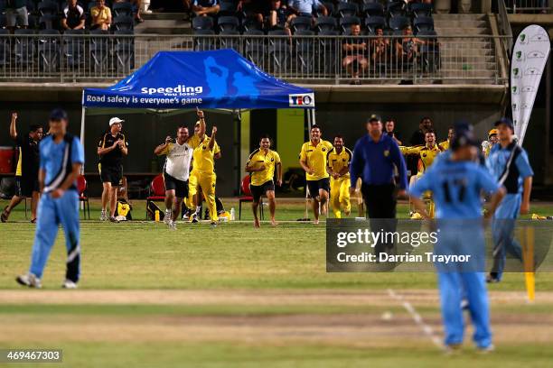
M 39 202 L 34 235 L 30 272 L 38 278 L 42 273 L 52 246 L 58 235 L 58 227 L 63 227 L 67 248 L 67 269 L 65 278 L 77 282 L 80 277 L 80 224 L 79 194 L 77 190 L 67 190 L 61 198 L 42 195 Z

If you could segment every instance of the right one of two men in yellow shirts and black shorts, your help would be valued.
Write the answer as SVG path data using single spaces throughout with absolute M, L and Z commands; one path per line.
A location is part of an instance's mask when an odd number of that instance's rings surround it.
M 330 175 L 326 170 L 326 153 L 333 149 L 333 143 L 321 139 L 321 127 L 311 127 L 311 140 L 302 145 L 300 165 L 305 170 L 307 189 L 313 198 L 314 224 L 319 223 L 319 213 L 326 215 L 326 202 L 330 191 Z

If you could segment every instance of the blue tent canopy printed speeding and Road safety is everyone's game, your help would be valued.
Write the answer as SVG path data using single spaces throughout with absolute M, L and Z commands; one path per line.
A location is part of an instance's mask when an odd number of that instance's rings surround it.
M 86 88 L 82 106 L 314 108 L 314 93 L 268 75 L 233 50 L 161 51 L 114 86 Z

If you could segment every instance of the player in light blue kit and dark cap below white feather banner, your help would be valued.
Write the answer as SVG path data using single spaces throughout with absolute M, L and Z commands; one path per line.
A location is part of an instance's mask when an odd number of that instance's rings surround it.
M 511 119 L 502 118 L 495 126 L 500 143 L 490 151 L 486 165 L 493 177 L 507 189 L 507 195 L 495 211 L 492 223 L 493 267 L 488 282 L 499 282 L 505 268 L 506 253 L 522 261 L 522 249 L 514 239 L 514 225 L 520 214 L 530 211 L 530 192 L 534 171 L 528 155 L 514 141 Z

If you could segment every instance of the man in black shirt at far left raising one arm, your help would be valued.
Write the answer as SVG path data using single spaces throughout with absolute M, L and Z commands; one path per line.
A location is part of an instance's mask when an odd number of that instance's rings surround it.
M 17 161 L 17 170 L 15 171 L 15 180 L 17 181 L 17 193 L 10 201 L 10 204 L 4 208 L 0 220 L 6 222 L 10 216 L 10 212 L 24 198 L 31 198 L 31 222 L 36 221 L 36 207 L 39 201 L 39 142 L 42 139 L 42 126 L 31 125 L 31 130 L 26 135 L 17 133 L 15 123 L 17 121 L 17 113 L 12 114 L 12 122 L 10 124 L 10 136 L 14 139 L 19 147 L 19 160 Z

